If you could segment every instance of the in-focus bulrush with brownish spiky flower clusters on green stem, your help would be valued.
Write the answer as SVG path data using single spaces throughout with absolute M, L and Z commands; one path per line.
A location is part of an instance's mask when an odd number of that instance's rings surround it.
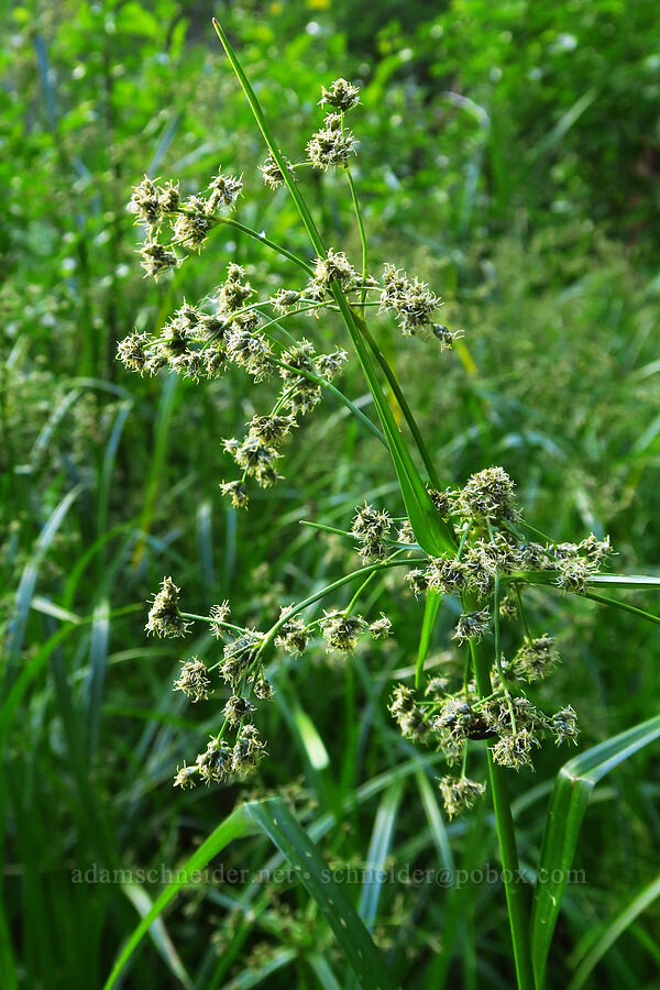
M 213 663 L 187 658 L 175 690 L 194 703 L 208 703 L 209 694 L 221 688 L 227 695 L 218 713 L 217 733 L 189 765 L 182 763 L 174 783 L 191 788 L 227 781 L 250 773 L 266 757 L 267 743 L 256 724 L 260 707 L 274 693 L 265 675 L 274 651 L 301 654 L 311 640 L 321 639 L 329 653 L 350 663 L 359 641 L 396 636 L 386 601 L 374 604 L 372 597 L 376 579 L 393 572 L 411 590 L 411 607 L 415 598 L 425 605 L 419 605 L 422 646 L 416 676 L 410 683 L 393 685 L 389 712 L 406 739 L 441 750 L 448 770 L 438 779 L 438 790 L 449 818 L 471 809 L 490 791 L 518 986 L 538 987 L 529 934 L 530 887 L 519 870 L 509 781 L 520 769 L 532 767 L 543 743 L 578 743 L 573 704 L 579 708 L 579 702 L 561 698 L 544 711 L 527 696 L 528 686 L 551 676 L 560 658 L 552 635 L 532 628 L 526 592 L 544 587 L 552 594 L 554 588 L 652 618 L 597 592 L 603 584 L 632 587 L 644 579 L 601 573 L 610 554 L 608 539 L 591 534 L 576 542 L 554 542 L 538 532 L 526 522 L 514 482 L 502 466 L 475 465 L 479 470 L 463 484 L 448 484 L 439 477 L 370 322 L 372 317 L 394 318 L 404 337 L 421 338 L 437 350 L 439 371 L 442 352 L 452 348 L 460 331 L 439 322 L 439 296 L 406 273 L 397 258 L 378 273 L 370 271 L 366 232 L 351 173 L 359 146 L 346 123 L 349 114 L 351 121 L 359 117 L 359 89 L 341 78 L 321 89 L 320 113 L 324 117 L 307 142 L 305 158 L 289 160 L 274 139 L 227 36 L 218 24 L 216 30 L 265 142 L 265 157 L 255 162 L 255 175 L 271 189 L 286 187 L 311 250 L 301 256 L 237 219 L 244 187 L 242 177 L 230 172 L 219 170 L 205 190 L 187 198 L 180 197 L 175 180 L 145 177 L 129 209 L 145 232 L 140 255 L 147 276 L 165 276 L 207 249 L 213 230 L 230 227 L 261 242 L 264 264 L 268 252 L 286 258 L 292 279 L 268 298 L 260 298 L 244 270 L 232 263 L 220 286 L 202 301 L 182 300 L 160 333 L 134 332 L 123 340 L 119 359 L 142 375 L 168 369 L 195 381 L 215 378 L 228 365 L 238 365 L 255 383 L 263 383 L 265 394 L 274 395 L 270 402 L 264 399 L 262 411 L 253 416 L 245 431 L 223 441 L 233 468 L 228 466 L 220 490 L 234 506 L 249 507 L 253 485 L 268 488 L 277 484 L 293 432 L 330 392 L 389 451 L 406 515 L 394 518 L 387 508 L 365 503 L 346 519 L 344 529 L 310 524 L 352 542 L 360 565 L 302 601 L 284 603 L 265 629 L 241 625 L 234 618 L 240 605 L 230 609 L 228 602 L 211 608 L 208 616 L 188 613 L 173 579 L 164 579 L 151 604 L 147 632 L 185 637 L 193 624 L 206 623 L 220 645 Z M 360 235 L 360 258 L 350 258 L 343 245 L 328 242 L 317 227 L 304 195 L 308 169 L 333 169 L 345 177 Z M 309 318 L 327 314 L 339 315 L 343 336 L 334 350 L 320 352 L 315 343 L 315 321 Z M 360 363 L 380 425 L 336 384 L 351 359 Z M 405 432 L 398 421 L 405 425 Z M 334 595 L 346 585 L 355 592 L 346 607 L 339 607 Z M 386 590 L 383 595 L 388 593 Z M 458 682 L 425 672 L 428 640 L 444 596 L 460 606 L 452 635 L 462 667 Z M 502 649 L 503 622 L 518 629 L 518 646 L 508 656 Z M 469 776 L 471 748 L 484 744 L 487 782 Z

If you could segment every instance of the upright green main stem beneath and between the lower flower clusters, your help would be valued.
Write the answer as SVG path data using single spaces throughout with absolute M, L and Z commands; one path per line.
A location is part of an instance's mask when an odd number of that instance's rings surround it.
M 472 603 L 464 603 L 464 607 L 469 610 L 471 609 L 471 605 Z M 472 656 L 479 695 L 482 698 L 486 698 L 493 693 L 490 673 L 490 648 L 483 642 L 471 640 L 470 652 Z M 506 771 L 494 762 L 493 757 L 491 756 L 490 746 L 487 756 L 491 791 L 493 794 L 493 810 L 495 812 L 495 827 L 497 831 L 497 840 L 499 843 L 499 856 L 502 858 L 504 889 L 514 947 L 518 990 L 534 990 L 535 985 L 529 945 L 529 913 L 531 902 L 525 882 L 519 879 L 520 867 L 518 861 L 518 847 L 516 844 L 516 831 L 506 783 Z

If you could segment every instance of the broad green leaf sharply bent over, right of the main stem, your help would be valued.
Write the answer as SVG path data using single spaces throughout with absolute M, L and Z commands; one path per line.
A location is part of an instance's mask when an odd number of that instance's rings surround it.
M 537 990 L 542 990 L 544 986 L 552 933 L 591 792 L 606 773 L 659 737 L 660 715 L 588 749 L 559 771 L 546 818 L 531 915 L 531 954 Z

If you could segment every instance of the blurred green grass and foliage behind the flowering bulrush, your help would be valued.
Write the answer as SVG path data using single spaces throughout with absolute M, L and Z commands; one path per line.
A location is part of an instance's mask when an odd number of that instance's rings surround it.
M 133 327 L 195 301 L 230 260 L 268 294 L 284 263 L 222 230 L 173 282 L 143 279 L 125 211 L 146 172 L 195 193 L 222 165 L 243 173 L 239 218 L 306 252 L 285 194 L 263 188 L 264 148 L 212 32 L 243 59 L 283 148 L 300 158 L 320 120 L 320 84 L 362 87 L 355 178 L 374 263 L 431 283 L 464 348 L 440 359 L 377 323 L 441 473 L 502 464 L 526 517 L 557 539 L 609 534 L 617 571 L 658 573 L 660 543 L 660 29 L 652 0 L 160 0 L 10 3 L 0 26 L 0 520 L 4 829 L 2 985 L 102 986 L 145 898 L 75 884 L 72 871 L 175 867 L 249 791 L 283 792 L 309 826 L 340 824 L 327 858 L 362 865 L 378 793 L 355 790 L 414 750 L 386 711 L 393 671 L 414 663 L 422 606 L 388 588 L 396 636 L 329 667 L 322 647 L 278 656 L 262 718 L 270 758 L 246 788 L 174 792 L 172 776 L 217 726 L 220 698 L 172 692 L 179 658 L 213 658 L 208 636 L 147 641 L 145 601 L 163 574 L 202 613 L 230 598 L 258 626 L 352 568 L 352 551 L 299 526 L 344 527 L 364 498 L 400 512 L 377 442 L 330 397 L 307 418 L 286 481 L 222 502 L 221 439 L 266 405 L 230 372 L 194 385 L 141 380 L 114 359 Z M 328 240 L 356 261 L 340 177 L 305 180 Z M 309 330 L 342 344 L 329 322 Z M 370 411 L 359 371 L 343 391 Z M 373 411 L 373 410 L 372 410 Z M 648 596 L 647 596 L 648 597 Z M 636 600 L 637 601 L 637 600 Z M 336 603 L 332 603 L 336 604 Z M 651 600 L 640 604 L 658 610 Z M 563 664 L 539 691 L 579 713 L 580 746 L 657 713 L 660 639 L 631 616 L 548 593 L 535 624 Z M 433 647 L 447 649 L 453 613 Z M 187 647 L 185 649 L 184 647 Z M 506 648 L 506 644 L 505 644 Z M 443 662 L 440 654 L 435 662 Z M 651 747 L 652 749 L 652 747 Z M 521 859 L 538 858 L 547 795 L 565 752 L 513 781 Z M 483 754 L 475 760 L 482 760 Z M 638 755 L 587 812 L 550 963 L 550 987 L 657 875 L 660 773 Z M 441 772 L 441 765 L 438 773 Z M 387 862 L 496 864 L 487 807 L 441 822 L 432 771 L 405 778 Z M 425 787 L 425 779 L 433 787 Z M 361 795 L 355 799 L 355 794 Z M 271 849 L 237 843 L 227 866 Z M 359 887 L 348 888 L 358 902 Z M 586 986 L 656 987 L 658 905 Z M 200 886 L 182 894 L 125 987 L 337 986 L 345 964 L 301 888 Z M 375 938 L 405 987 L 508 988 L 502 889 L 385 883 Z M 170 939 L 170 941 L 169 941 Z M 178 974 L 178 975 L 177 975 Z M 326 982 L 323 982 L 324 978 Z

